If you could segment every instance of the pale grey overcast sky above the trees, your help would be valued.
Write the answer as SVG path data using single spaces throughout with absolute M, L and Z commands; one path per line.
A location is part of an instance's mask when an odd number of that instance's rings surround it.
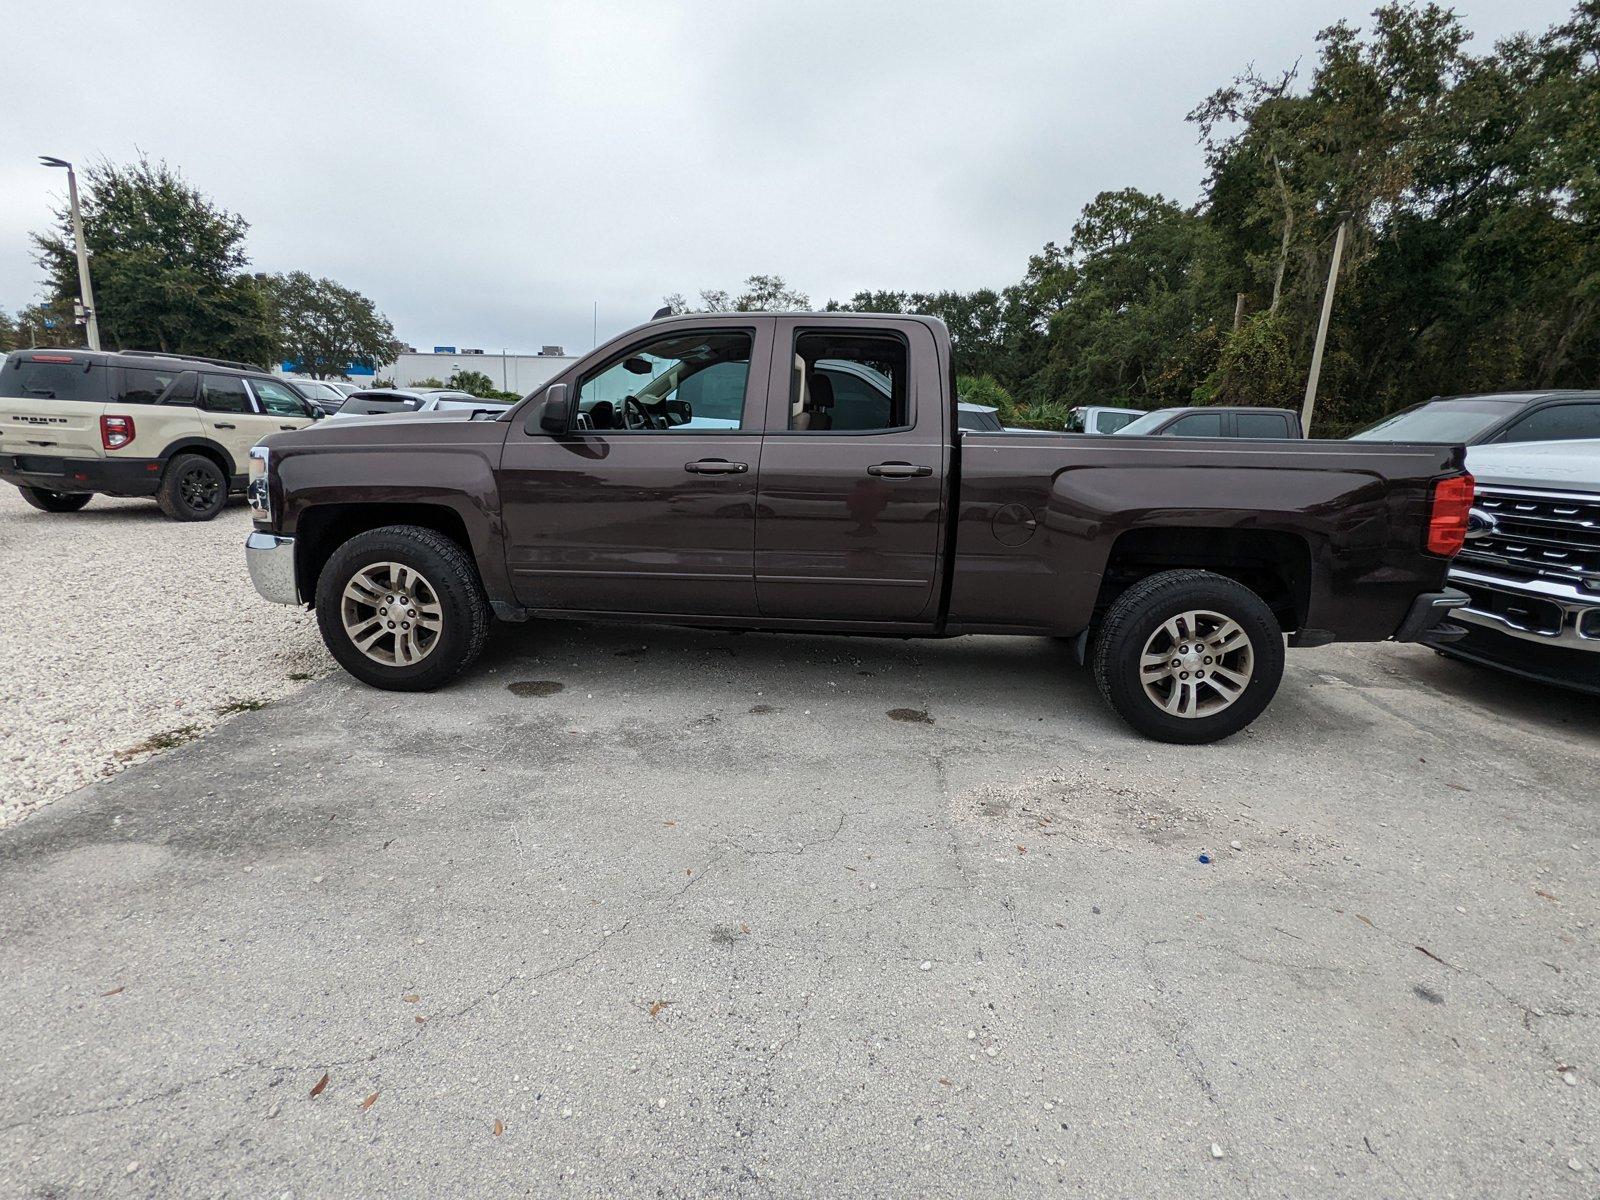
M 245 216 L 258 270 L 371 296 L 403 341 L 590 344 L 778 272 L 1005 286 L 1096 192 L 1192 202 L 1197 101 L 1371 5 L 26 5 L 0 69 L 0 309 L 38 293 L 53 154 L 144 150 Z M 1475 46 L 1570 5 L 1467 0 Z

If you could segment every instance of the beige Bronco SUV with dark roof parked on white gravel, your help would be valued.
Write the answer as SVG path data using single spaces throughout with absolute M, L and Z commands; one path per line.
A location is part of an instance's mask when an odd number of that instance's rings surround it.
M 94 493 L 211 520 L 250 448 L 322 413 L 250 363 L 147 350 L 18 350 L 0 368 L 0 480 L 45 512 Z

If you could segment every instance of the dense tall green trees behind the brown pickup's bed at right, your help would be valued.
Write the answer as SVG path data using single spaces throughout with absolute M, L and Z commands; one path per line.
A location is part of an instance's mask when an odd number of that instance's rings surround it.
M 1600 0 L 1483 54 L 1469 42 L 1432 3 L 1330 26 L 1304 78 L 1246 70 L 1194 109 L 1194 203 L 1106 190 L 998 293 L 829 307 L 941 317 L 957 371 L 1024 410 L 1298 405 L 1347 219 L 1318 434 L 1437 394 L 1594 386 Z

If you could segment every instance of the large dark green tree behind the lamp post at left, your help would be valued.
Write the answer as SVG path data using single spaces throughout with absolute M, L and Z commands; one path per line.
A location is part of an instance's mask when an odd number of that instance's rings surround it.
M 243 218 L 229 213 L 166 163 L 83 171 L 83 237 L 93 256 L 101 338 L 110 347 L 267 362 L 275 336 L 267 296 L 245 274 Z M 70 216 L 34 234 L 46 304 L 78 296 Z

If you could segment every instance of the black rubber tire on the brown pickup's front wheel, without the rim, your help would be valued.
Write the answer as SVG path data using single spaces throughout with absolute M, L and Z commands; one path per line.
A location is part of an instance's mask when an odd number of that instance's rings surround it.
M 397 563 L 421 574 L 440 611 L 442 627 L 422 656 L 410 664 L 374 661 L 355 645 L 346 629 L 346 587 L 362 571 L 384 563 Z M 411 602 L 426 606 L 416 598 Z M 371 618 L 366 618 L 366 608 L 373 610 Z M 352 613 L 368 624 L 381 619 L 376 605 L 363 606 L 357 602 Z M 411 611 L 411 616 L 416 613 Z M 394 629 L 387 621 L 382 624 Z M 362 683 L 387 691 L 432 691 L 453 680 L 483 653 L 490 634 L 490 605 L 477 565 L 456 541 L 419 525 L 386 525 L 350 538 L 328 558 L 317 579 L 317 626 L 328 653 Z M 398 634 L 378 630 L 378 637 L 374 653 L 389 654 L 390 659 L 400 654 Z

